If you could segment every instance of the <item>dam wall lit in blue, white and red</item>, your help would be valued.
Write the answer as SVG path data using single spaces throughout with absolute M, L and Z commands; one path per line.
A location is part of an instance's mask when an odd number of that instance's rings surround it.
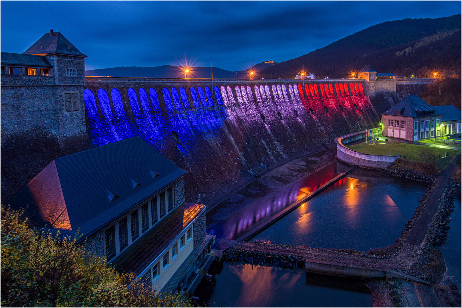
M 93 146 L 140 136 L 189 173 L 185 199 L 209 208 L 256 172 L 377 126 L 358 80 L 86 77 Z M 142 183 L 141 183 L 142 184 Z

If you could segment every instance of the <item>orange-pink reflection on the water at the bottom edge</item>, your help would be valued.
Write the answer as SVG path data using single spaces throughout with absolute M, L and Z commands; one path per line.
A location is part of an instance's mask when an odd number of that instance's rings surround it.
M 271 267 L 261 267 L 252 265 L 233 266 L 234 272 L 243 283 L 241 296 L 236 302 L 240 307 L 267 307 L 271 295 L 277 293 L 276 290 L 292 289 L 297 282 L 301 272 L 286 272 L 279 279 Z

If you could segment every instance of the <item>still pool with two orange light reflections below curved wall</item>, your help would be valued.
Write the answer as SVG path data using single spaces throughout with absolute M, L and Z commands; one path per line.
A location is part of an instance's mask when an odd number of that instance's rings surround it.
M 395 243 L 426 186 L 355 170 L 252 240 L 368 251 Z

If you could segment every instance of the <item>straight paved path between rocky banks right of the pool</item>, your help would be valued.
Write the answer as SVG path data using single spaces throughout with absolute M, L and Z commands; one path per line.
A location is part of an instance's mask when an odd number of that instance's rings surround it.
M 451 178 L 452 172 L 456 168 L 456 163 L 454 162 L 455 158 L 449 164 L 449 166 L 444 170 L 443 175 L 439 178 L 436 183 L 435 188 L 433 189 L 432 194 L 427 199 L 426 205 L 422 211 L 422 215 L 417 221 L 415 227 L 411 230 L 411 234 L 407 237 L 407 242 L 411 245 L 419 245 L 425 237 L 425 234 L 428 230 L 428 224 L 435 215 L 436 210 L 438 209 L 439 198 L 444 191 L 444 187 Z

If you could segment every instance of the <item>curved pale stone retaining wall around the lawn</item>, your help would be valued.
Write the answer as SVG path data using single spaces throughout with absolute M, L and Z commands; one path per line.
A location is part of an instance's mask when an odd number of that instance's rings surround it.
M 358 165 L 362 168 L 377 169 L 388 167 L 399 156 L 369 155 L 353 151 L 347 148 L 343 143 L 349 143 L 359 139 L 365 139 L 365 132 L 352 133 L 339 138 L 335 138 L 337 143 L 337 159 L 342 162 Z

